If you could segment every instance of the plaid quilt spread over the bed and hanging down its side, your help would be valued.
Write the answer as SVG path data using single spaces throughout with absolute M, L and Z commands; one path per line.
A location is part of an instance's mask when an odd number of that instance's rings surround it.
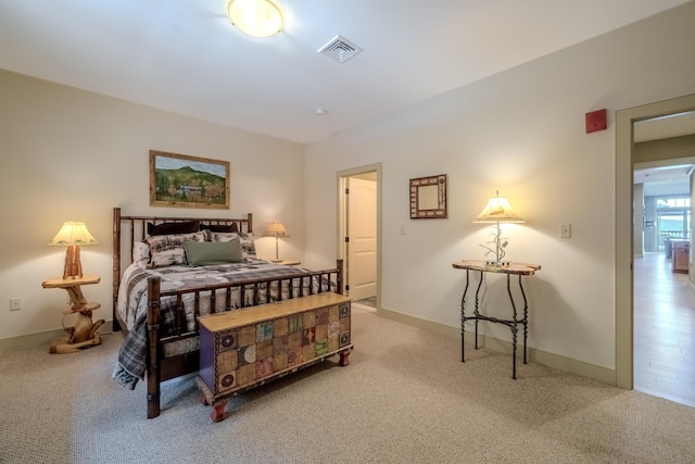
M 210 244 L 225 242 L 207 242 Z M 195 243 L 203 244 L 203 243 Z M 290 298 L 289 285 L 282 285 L 278 296 L 277 283 L 270 283 L 270 301 L 266 301 L 265 287 L 263 291 L 254 294 L 254 289 L 245 288 L 244 294 L 241 296 L 240 288 L 233 287 L 231 291 L 230 308 L 227 308 L 226 288 L 215 290 L 215 308 L 211 308 L 211 293 L 213 290 L 204 290 L 205 287 L 215 285 L 236 284 L 247 281 L 249 279 L 266 279 L 266 278 L 288 278 L 298 276 L 292 280 L 292 298 L 299 297 L 300 287 L 304 287 L 304 294 L 309 291 L 316 291 L 318 288 L 317 278 L 301 279 L 299 276 L 305 271 L 296 267 L 288 267 L 266 261 L 247 258 L 242 262 L 227 263 L 210 266 L 185 266 L 173 265 L 166 267 L 147 268 L 138 262 L 134 262 L 125 271 L 118 291 L 118 315 L 129 329 L 124 346 L 118 354 L 118 364 L 114 369 L 113 378 L 126 388 L 134 389 L 138 379 L 143 377 L 146 372 L 146 346 L 147 346 L 147 289 L 148 278 L 156 276 L 161 280 L 161 291 L 201 289 L 199 292 L 199 313 L 200 315 L 210 314 L 211 312 L 223 312 L 235 310 L 243 306 L 285 300 Z M 311 281 L 309 281 L 311 280 Z M 288 280 L 289 283 L 289 280 Z M 260 286 L 268 284 L 262 283 Z M 309 289 L 308 286 L 314 289 Z M 185 310 L 186 328 L 189 331 L 195 330 L 195 292 L 184 293 L 182 304 Z M 242 300 L 243 298 L 243 300 Z M 163 337 L 173 335 L 167 333 L 174 326 L 176 318 L 176 297 L 162 297 L 161 299 L 161 319 L 160 330 Z M 242 304 L 243 301 L 243 304 Z M 189 352 L 198 349 L 198 337 L 186 339 L 182 347 L 172 344 L 165 346 L 164 355 L 172 356 L 180 354 L 180 352 Z

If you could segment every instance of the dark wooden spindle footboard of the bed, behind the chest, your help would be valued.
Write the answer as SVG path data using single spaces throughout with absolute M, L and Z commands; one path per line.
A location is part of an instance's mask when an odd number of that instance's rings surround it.
M 303 285 L 304 281 L 317 283 L 317 285 Z M 296 287 L 299 283 L 299 287 Z M 165 344 L 179 340 L 197 339 L 199 336 L 198 316 L 200 315 L 201 298 L 210 298 L 210 308 L 216 308 L 216 294 L 222 291 L 226 294 L 226 308 L 232 310 L 230 304 L 230 293 L 232 289 L 238 289 L 240 294 L 251 293 L 251 298 L 241 298 L 241 308 L 255 306 L 265 301 L 282 301 L 305 297 L 323 292 L 343 293 L 343 260 L 337 260 L 336 268 L 326 271 L 301 271 L 285 277 L 274 277 L 265 279 L 239 280 L 233 284 L 220 284 L 201 288 L 161 291 L 160 279 L 150 277 L 148 279 L 148 315 L 147 315 L 147 399 L 148 418 L 160 415 L 160 394 L 162 381 L 195 373 L 199 369 L 199 350 L 185 354 L 166 356 Z M 282 292 L 274 292 L 273 289 L 289 288 L 287 298 Z M 305 290 L 306 288 L 306 290 Z M 194 293 L 194 328 L 190 330 L 184 314 L 184 293 Z M 162 299 L 174 297 L 177 300 L 174 327 L 163 325 Z

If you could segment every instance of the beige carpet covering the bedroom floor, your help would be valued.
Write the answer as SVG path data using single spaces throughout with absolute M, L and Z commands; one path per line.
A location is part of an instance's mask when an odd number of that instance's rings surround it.
M 0 353 L 2 463 L 692 463 L 695 409 L 615 389 L 353 305 L 351 364 L 239 397 L 220 423 L 192 378 L 146 418 L 111 379 L 121 335 L 84 352 Z

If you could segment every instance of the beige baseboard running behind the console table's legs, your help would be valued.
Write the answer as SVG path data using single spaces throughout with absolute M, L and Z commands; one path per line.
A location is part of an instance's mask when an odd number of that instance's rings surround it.
M 392 321 L 460 340 L 460 327 L 447 326 L 432 321 L 422 319 L 420 317 L 399 313 L 397 311 L 387 310 L 384 308 L 379 309 L 377 314 Z M 468 334 L 470 334 L 470 338 L 468 338 Z M 466 337 L 467 339 L 472 340 L 475 333 L 466 330 Z M 511 354 L 511 342 L 494 337 L 486 337 L 480 334 L 478 335 L 478 347 L 484 347 L 509 355 Z M 517 349 L 517 355 L 519 355 L 519 351 L 521 350 Z M 522 353 L 523 351 L 521 351 L 521 358 L 523 356 Z M 580 377 L 591 378 L 603 384 L 616 385 L 615 369 L 596 366 L 530 347 L 527 349 L 527 360 L 531 363 L 541 364 L 569 374 L 578 375 Z

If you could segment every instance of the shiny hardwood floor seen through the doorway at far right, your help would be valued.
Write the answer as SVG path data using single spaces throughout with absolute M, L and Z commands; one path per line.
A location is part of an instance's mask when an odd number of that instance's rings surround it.
M 634 389 L 695 406 L 695 291 L 664 252 L 634 260 Z

